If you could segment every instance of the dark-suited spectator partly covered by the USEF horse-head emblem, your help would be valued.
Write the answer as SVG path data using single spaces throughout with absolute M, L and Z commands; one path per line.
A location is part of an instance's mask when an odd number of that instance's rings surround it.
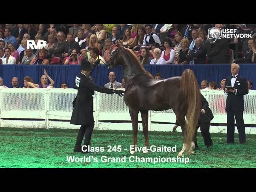
M 222 24 L 216 24 L 215 27 L 223 28 Z M 209 63 L 218 64 L 218 63 L 227 63 L 229 44 L 227 38 L 220 38 L 213 42 L 214 46 L 212 51 L 209 52 L 206 56 L 209 58 Z

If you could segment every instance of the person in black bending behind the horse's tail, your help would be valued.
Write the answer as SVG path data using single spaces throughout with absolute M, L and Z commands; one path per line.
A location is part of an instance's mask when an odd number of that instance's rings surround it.
M 208 101 L 204 98 L 204 96 L 201 94 L 201 100 L 202 100 L 202 109 L 201 109 L 201 115 L 198 120 L 198 126 L 196 128 L 196 134 L 197 130 L 200 127 L 202 136 L 204 138 L 204 145 L 206 147 L 212 146 L 212 139 L 210 135 L 210 122 L 214 118 L 212 114 L 212 110 L 209 108 Z M 175 122 L 175 126 L 173 127 L 173 131 L 176 131 L 177 126 L 179 126 L 177 120 Z M 196 141 L 196 148 L 198 148 L 198 144 Z

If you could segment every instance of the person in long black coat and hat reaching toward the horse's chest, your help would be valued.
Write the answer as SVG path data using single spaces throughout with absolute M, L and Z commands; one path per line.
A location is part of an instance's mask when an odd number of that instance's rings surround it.
M 78 89 L 77 96 L 73 101 L 73 112 L 70 123 L 75 125 L 81 125 L 76 139 L 76 146 L 74 152 L 89 152 L 88 146 L 90 146 L 90 140 L 92 137 L 92 130 L 94 128 L 93 118 L 93 98 L 94 91 L 108 93 L 108 94 L 119 94 L 123 96 L 124 91 L 112 90 L 104 87 L 99 87 L 93 84 L 88 78 L 92 72 L 92 66 L 88 61 L 82 61 L 81 73 L 76 76 L 75 89 Z M 84 146 L 81 146 L 84 137 Z

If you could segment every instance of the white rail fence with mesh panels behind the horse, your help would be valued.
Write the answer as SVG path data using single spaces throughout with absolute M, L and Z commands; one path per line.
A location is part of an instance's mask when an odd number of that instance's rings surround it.
M 214 114 L 211 132 L 226 132 L 227 96 L 218 90 L 201 90 L 201 93 Z M 74 89 L 0 88 L 0 127 L 77 129 L 80 126 L 69 122 L 76 94 Z M 245 124 L 256 125 L 256 91 L 250 90 L 244 96 L 244 102 Z M 116 94 L 95 92 L 94 120 L 95 130 L 132 130 L 128 107 L 124 98 Z M 149 112 L 149 130 L 171 131 L 175 121 L 172 110 Z M 221 125 L 217 127 L 213 123 Z M 142 130 L 141 123 L 139 130 Z M 256 134 L 256 128 L 248 126 L 246 133 Z

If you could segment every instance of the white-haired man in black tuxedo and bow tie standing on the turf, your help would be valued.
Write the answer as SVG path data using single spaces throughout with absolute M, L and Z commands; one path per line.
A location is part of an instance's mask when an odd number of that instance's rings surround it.
M 232 86 L 233 89 L 225 88 L 224 93 L 228 95 L 226 101 L 227 143 L 234 143 L 235 116 L 239 141 L 240 144 L 243 144 L 245 143 L 244 95 L 248 94 L 248 84 L 246 78 L 239 76 L 239 69 L 240 66 L 238 64 L 231 64 L 232 76 L 226 77 L 225 86 Z

